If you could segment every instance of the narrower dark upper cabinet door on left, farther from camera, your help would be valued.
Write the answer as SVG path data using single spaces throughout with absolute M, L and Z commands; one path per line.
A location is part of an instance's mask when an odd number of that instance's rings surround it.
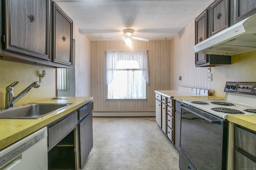
M 72 66 L 73 21 L 53 3 L 53 61 Z

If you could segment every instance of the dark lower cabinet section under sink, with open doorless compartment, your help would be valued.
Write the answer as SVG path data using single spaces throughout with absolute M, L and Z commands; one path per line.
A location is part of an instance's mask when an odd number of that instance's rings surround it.
M 82 169 L 93 147 L 93 102 L 70 112 L 48 127 L 48 170 Z

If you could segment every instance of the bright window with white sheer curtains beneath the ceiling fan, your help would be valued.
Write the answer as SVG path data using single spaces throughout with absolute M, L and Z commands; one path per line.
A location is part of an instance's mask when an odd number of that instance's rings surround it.
M 108 99 L 146 99 L 148 53 L 106 52 Z

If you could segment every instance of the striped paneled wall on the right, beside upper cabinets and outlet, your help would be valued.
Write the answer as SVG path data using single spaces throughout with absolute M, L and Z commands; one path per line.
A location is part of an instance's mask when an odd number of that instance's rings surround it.
M 213 91 L 212 81 L 207 81 L 207 68 L 195 67 L 195 26 L 191 21 L 171 41 L 172 90 L 178 86 L 202 88 Z M 179 80 L 179 76 L 182 80 Z

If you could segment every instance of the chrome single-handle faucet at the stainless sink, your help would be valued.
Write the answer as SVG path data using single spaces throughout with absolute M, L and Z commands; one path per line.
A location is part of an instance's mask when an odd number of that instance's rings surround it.
M 25 96 L 31 88 L 38 88 L 41 86 L 39 82 L 33 82 L 30 84 L 25 90 L 20 92 L 17 96 L 13 94 L 13 88 L 19 83 L 19 81 L 13 82 L 9 86 L 6 87 L 6 94 L 5 94 L 5 109 L 13 108 L 14 103 L 20 100 L 23 96 Z

